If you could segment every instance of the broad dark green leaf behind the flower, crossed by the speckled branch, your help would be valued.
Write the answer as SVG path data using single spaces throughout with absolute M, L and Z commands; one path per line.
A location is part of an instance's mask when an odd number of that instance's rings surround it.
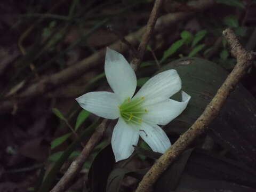
M 189 64 L 184 65 L 185 61 Z M 220 65 L 199 58 L 175 60 L 159 72 L 167 69 L 177 70 L 182 79 L 182 90 L 191 96 L 188 107 L 164 129 L 169 135 L 182 134 L 203 113 L 228 74 Z M 173 95 L 171 99 L 179 100 L 178 96 L 180 94 Z M 214 142 L 218 142 L 249 166 L 255 166 L 256 137 L 251 134 L 256 131 L 255 126 L 252 126 L 256 121 L 255 114 L 255 98 L 239 84 L 230 94 L 219 116 L 209 125 L 207 132 L 214 137 Z

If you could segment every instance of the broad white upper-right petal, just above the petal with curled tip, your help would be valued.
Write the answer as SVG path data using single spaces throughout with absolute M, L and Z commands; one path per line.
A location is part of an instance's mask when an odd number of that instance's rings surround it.
M 181 89 L 181 80 L 176 70 L 170 69 L 150 78 L 134 96 L 145 97 L 145 105 L 162 102 Z

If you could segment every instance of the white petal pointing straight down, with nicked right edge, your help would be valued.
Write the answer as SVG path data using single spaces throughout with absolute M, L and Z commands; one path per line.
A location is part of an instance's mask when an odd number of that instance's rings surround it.
M 138 140 L 138 129 L 125 123 L 122 118 L 119 118 L 111 139 L 116 162 L 130 157 L 134 151 L 133 145 L 137 145 Z

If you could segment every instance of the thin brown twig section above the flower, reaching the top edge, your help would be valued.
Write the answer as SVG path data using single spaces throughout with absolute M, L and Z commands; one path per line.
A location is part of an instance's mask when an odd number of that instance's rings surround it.
M 158 12 L 159 9 L 161 7 L 161 5 L 163 4 L 163 0 L 155 0 L 155 4 L 154 7 L 150 13 L 149 19 L 148 19 L 148 23 L 146 26 L 146 31 L 144 33 L 144 35 L 142 36 L 140 45 L 138 47 L 138 53 L 137 53 L 137 57 L 134 57 L 131 61 L 131 66 L 134 70 L 137 70 L 140 62 L 143 59 L 143 56 L 145 54 L 149 39 L 152 36 L 155 24 L 156 24 L 156 20 L 158 17 Z

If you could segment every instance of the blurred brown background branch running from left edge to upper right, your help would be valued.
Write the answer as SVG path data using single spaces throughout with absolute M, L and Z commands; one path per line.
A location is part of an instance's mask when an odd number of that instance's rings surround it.
M 190 3 L 190 2 L 189 2 Z M 157 19 L 154 32 L 160 33 L 162 30 L 174 25 L 175 23 L 185 20 L 196 12 L 202 12 L 209 7 L 214 5 L 214 0 L 198 0 L 194 4 L 190 5 L 194 7 L 194 12 L 177 12 L 169 13 L 161 18 Z M 142 27 L 138 31 L 127 35 L 125 39 L 130 42 L 133 46 L 138 45 L 138 39 L 144 34 L 146 27 Z M 111 49 L 114 49 L 118 52 L 125 53 L 129 48 L 121 43 L 115 42 L 110 45 Z M 82 76 L 87 70 L 92 67 L 99 65 L 103 62 L 105 57 L 105 49 L 99 50 L 97 53 L 91 55 L 90 57 L 76 63 L 75 65 L 66 68 L 58 73 L 53 75 L 46 76 L 39 81 L 31 84 L 27 89 L 19 93 L 15 98 L 4 98 L 0 103 L 0 114 L 10 113 L 15 105 L 20 105 L 27 101 L 30 101 L 31 98 L 38 97 L 42 94 L 46 94 L 47 91 L 54 89 L 55 87 L 60 86 L 70 82 L 72 79 Z M 14 105 L 15 104 L 15 105 Z

